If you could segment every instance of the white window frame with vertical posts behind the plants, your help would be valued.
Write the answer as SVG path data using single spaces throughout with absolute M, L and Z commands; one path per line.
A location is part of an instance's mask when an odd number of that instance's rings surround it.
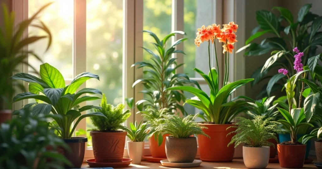
M 73 36 L 73 52 L 72 52 L 72 63 L 73 63 L 73 76 L 86 71 L 86 0 L 73 0 L 74 1 L 74 36 Z M 212 0 L 211 0 L 212 1 Z M 234 21 L 239 23 L 239 32 L 237 35 L 240 37 L 239 41 L 243 42 L 245 40 L 244 35 L 244 23 L 245 23 L 245 0 L 216 0 L 212 1 L 213 5 L 213 23 L 222 24 L 229 21 Z M 139 48 L 143 46 L 143 0 L 123 0 L 123 72 L 122 72 L 122 87 L 123 87 L 123 100 L 124 98 L 134 98 L 134 100 L 143 99 L 143 94 L 138 93 L 143 89 L 143 85 L 136 85 L 132 88 L 132 84 L 136 79 L 143 77 L 143 71 L 130 68 L 132 64 L 138 61 L 143 61 L 143 49 Z M 242 6 L 237 8 L 237 6 Z M 16 26 L 19 22 L 28 18 L 28 0 L 12 0 L 12 10 L 15 12 L 15 22 Z M 232 12 L 233 11 L 233 12 Z M 223 17 L 224 16 L 224 17 Z M 171 19 L 171 30 L 181 30 L 184 31 L 184 0 L 172 0 L 172 19 Z M 227 21 L 227 22 L 226 22 Z M 237 22 L 240 21 L 240 22 Z M 133 29 L 134 28 L 134 29 Z M 28 30 L 24 32 L 24 37 L 28 36 Z M 172 37 L 172 42 L 182 38 L 183 35 L 176 34 Z M 75 43 L 77 42 L 77 43 Z M 217 48 L 221 48 L 221 44 L 216 44 Z M 242 43 L 236 43 L 235 48 L 240 48 Z M 27 48 L 27 47 L 26 47 Z M 178 50 L 184 49 L 184 42 L 177 45 Z M 223 70 L 223 54 L 218 52 L 218 64 L 219 70 Z M 245 77 L 245 66 L 244 57 L 240 56 L 241 53 L 233 54 L 230 61 L 230 71 L 232 76 L 230 80 L 243 79 Z M 212 58 L 214 58 L 214 53 L 211 53 Z M 184 63 L 184 56 L 181 53 L 175 53 L 172 57 L 177 57 L 177 63 Z M 26 59 L 28 61 L 28 59 Z M 238 64 L 237 64 L 238 63 Z M 240 64 L 242 63 L 242 64 Z M 212 66 L 215 66 L 215 60 L 212 59 Z M 28 67 L 21 65 L 18 67 L 20 72 L 28 72 Z M 238 70 L 238 71 L 237 71 Z M 184 73 L 184 68 L 181 67 L 176 70 L 177 73 Z M 223 71 L 221 71 L 223 72 Z M 206 84 L 203 78 L 191 78 L 196 80 L 199 84 Z M 223 76 L 219 80 L 220 84 L 223 81 Z M 65 80 L 66 84 L 71 82 L 71 79 Z M 22 82 L 23 85 L 28 89 L 28 83 Z M 81 88 L 86 87 L 84 83 Z M 21 93 L 22 91 L 16 91 L 15 94 Z M 244 90 L 237 90 L 235 95 L 244 94 Z M 19 101 L 13 104 L 13 109 L 22 108 L 23 105 L 27 104 L 28 100 Z M 124 101 L 123 101 L 124 102 Z M 82 103 L 85 106 L 85 103 Z M 128 108 L 128 106 L 126 106 Z M 125 126 L 129 126 L 130 122 L 140 121 L 142 116 L 136 114 L 137 108 L 134 108 L 132 115 L 126 121 Z M 86 112 L 83 112 L 86 113 Z M 86 130 L 86 119 L 81 120 L 81 122 L 76 127 L 77 129 Z M 86 136 L 85 136 L 86 137 Z M 127 138 L 128 140 L 128 138 Z M 144 155 L 149 154 L 148 142 L 145 143 Z M 199 152 L 198 154 L 199 155 Z M 93 158 L 92 148 L 86 147 L 84 161 Z M 127 147 L 124 149 L 124 157 L 128 157 Z

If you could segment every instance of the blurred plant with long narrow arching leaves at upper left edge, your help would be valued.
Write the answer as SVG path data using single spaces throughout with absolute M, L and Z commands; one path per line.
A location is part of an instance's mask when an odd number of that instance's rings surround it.
M 9 13 L 8 7 L 2 3 L 3 11 L 3 27 L 0 28 L 0 110 L 11 109 L 11 101 L 14 95 L 15 89 L 21 89 L 25 91 L 24 86 L 16 80 L 10 79 L 13 72 L 16 71 L 16 67 L 19 64 L 25 64 L 35 70 L 28 62 L 26 58 L 30 55 L 36 59 L 41 59 L 30 50 L 26 50 L 25 47 L 29 44 L 37 42 L 41 39 L 48 38 L 47 49 L 49 49 L 52 43 L 52 35 L 47 26 L 38 19 L 38 14 L 42 12 L 51 3 L 44 5 L 33 16 L 14 26 L 14 12 Z M 35 27 L 45 32 L 43 36 L 28 36 L 24 37 L 23 33 L 28 27 Z

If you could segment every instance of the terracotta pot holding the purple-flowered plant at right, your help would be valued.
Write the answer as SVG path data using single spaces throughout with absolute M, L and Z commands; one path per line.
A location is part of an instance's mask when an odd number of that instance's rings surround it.
M 302 168 L 304 165 L 306 145 L 277 145 L 279 165 L 283 168 Z

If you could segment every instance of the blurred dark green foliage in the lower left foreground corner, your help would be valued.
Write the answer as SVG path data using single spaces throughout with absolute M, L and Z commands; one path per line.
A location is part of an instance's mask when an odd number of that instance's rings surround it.
M 69 147 L 48 128 L 46 120 L 52 116 L 32 115 L 29 108 L 19 110 L 18 117 L 1 124 L 0 168 L 63 169 L 63 164 L 71 166 L 58 151 L 59 147 L 65 150 Z

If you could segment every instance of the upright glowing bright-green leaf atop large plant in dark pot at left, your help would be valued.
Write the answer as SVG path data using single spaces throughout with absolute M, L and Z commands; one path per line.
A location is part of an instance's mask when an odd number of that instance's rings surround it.
M 65 80 L 62 74 L 48 63 L 40 65 L 40 77 L 51 88 L 65 87 Z

